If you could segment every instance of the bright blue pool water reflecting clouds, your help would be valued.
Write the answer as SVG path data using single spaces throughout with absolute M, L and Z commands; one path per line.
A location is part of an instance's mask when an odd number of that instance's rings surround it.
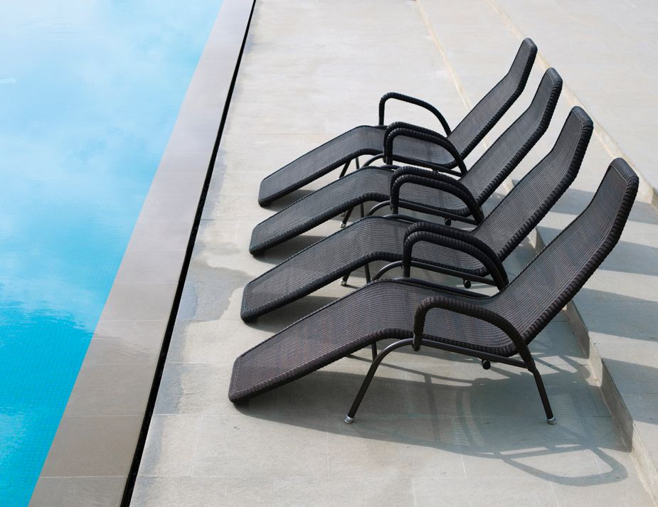
M 221 0 L 0 14 L 0 505 L 26 505 Z

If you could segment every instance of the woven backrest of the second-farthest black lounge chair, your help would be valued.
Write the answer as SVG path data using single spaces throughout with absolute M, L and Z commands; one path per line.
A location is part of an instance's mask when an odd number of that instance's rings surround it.
M 561 91 L 562 78 L 558 72 L 553 68 L 546 70 L 528 109 L 462 176 L 460 181 L 478 204 L 487 201 L 546 132 Z

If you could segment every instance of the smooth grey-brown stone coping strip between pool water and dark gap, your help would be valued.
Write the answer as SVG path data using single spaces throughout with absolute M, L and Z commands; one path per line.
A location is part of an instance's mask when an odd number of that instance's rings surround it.
M 119 506 L 254 0 L 223 0 L 30 506 Z M 143 437 L 143 436 L 142 436 Z

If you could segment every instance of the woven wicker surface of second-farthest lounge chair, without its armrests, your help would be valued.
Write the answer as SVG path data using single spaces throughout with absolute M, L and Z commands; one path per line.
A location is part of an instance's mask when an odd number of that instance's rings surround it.
M 562 80 L 548 69 L 528 109 L 487 149 L 472 169 L 460 179 L 478 206 L 491 196 L 506 176 L 526 156 L 548 129 L 560 97 Z M 400 137 L 398 139 L 416 139 Z M 396 139 L 397 142 L 397 139 Z M 294 238 L 333 218 L 344 210 L 367 201 L 387 201 L 393 174 L 386 169 L 364 168 L 329 183 L 292 203 L 256 225 L 249 251 L 267 248 Z M 450 193 L 410 183 L 403 187 L 402 201 L 422 203 L 437 211 L 469 216 L 471 210 Z

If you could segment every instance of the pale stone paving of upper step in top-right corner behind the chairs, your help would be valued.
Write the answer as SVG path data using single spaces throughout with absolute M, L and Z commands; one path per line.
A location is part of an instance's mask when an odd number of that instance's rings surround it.
M 532 33 L 550 65 L 609 134 L 612 146 L 658 188 L 658 4 L 652 0 L 487 0 Z

